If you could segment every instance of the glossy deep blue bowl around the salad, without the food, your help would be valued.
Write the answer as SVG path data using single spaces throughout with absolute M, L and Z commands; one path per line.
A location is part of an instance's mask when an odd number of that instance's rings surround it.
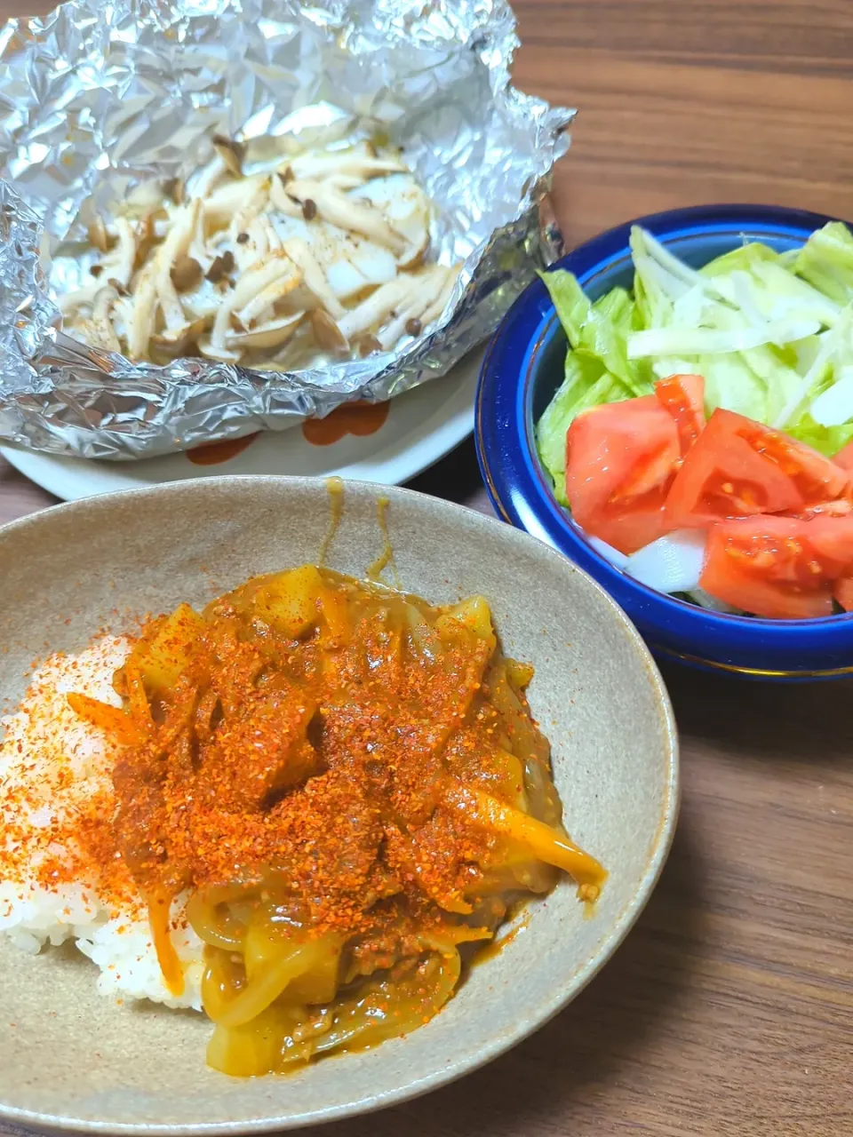
M 820 214 L 763 206 L 673 209 L 612 229 L 554 267 L 574 273 L 596 299 L 618 284 L 631 287 L 631 224 L 643 225 L 689 265 L 701 267 L 745 239 L 780 252 L 798 247 L 828 221 Z M 498 514 L 595 576 L 659 657 L 756 679 L 853 674 L 853 613 L 785 621 L 722 615 L 656 592 L 595 551 L 554 497 L 533 440 L 533 424 L 562 381 L 565 352 L 554 305 L 537 280 L 491 341 L 477 393 L 477 454 Z

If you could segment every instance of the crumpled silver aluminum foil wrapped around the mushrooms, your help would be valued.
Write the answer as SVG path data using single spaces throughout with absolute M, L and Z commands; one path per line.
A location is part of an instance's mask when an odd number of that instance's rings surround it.
M 444 375 L 561 251 L 547 211 L 573 111 L 516 91 L 504 0 L 73 0 L 0 34 L 0 439 L 132 459 L 282 430 Z M 464 262 L 448 306 L 396 352 L 258 372 L 133 364 L 61 331 L 45 279 L 99 207 L 184 175 L 212 133 L 384 132 Z

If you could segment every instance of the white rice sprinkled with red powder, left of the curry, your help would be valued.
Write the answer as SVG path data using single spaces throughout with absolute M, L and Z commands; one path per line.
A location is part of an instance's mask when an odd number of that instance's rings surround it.
M 0 719 L 0 935 L 35 954 L 67 939 L 99 968 L 98 990 L 119 1002 L 151 999 L 201 1009 L 201 941 L 187 926 L 184 901 L 172 907 L 172 939 L 184 964 L 180 997 L 166 988 L 144 908 L 123 865 L 122 898 L 102 894 L 74 839 L 74 818 L 92 812 L 92 797 L 115 806 L 115 749 L 83 722 L 66 695 L 77 691 L 121 705 L 113 673 L 127 655 L 125 639 L 102 637 L 76 656 L 52 656 L 33 675 L 15 714 Z M 66 864 L 72 879 L 44 880 L 45 865 Z M 41 872 L 39 871 L 41 868 Z M 134 903 L 135 902 L 135 903 Z

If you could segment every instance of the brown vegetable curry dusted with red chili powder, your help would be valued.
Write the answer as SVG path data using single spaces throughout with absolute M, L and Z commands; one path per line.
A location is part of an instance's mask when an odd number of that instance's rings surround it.
M 604 870 L 561 823 L 546 739 L 488 604 L 315 565 L 150 621 L 117 709 L 121 855 L 164 976 L 173 901 L 204 940 L 208 1062 L 283 1071 L 426 1022 L 519 898 Z

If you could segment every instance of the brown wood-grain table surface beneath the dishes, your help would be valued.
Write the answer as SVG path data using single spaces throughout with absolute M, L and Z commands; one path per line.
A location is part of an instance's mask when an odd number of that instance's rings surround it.
M 851 0 L 516 8 L 519 85 L 581 109 L 555 186 L 570 243 L 703 201 L 853 217 Z M 470 443 L 415 484 L 486 508 Z M 0 463 L 0 521 L 50 501 Z M 853 1134 L 853 683 L 665 678 L 681 820 L 616 957 L 491 1067 L 324 1134 Z

